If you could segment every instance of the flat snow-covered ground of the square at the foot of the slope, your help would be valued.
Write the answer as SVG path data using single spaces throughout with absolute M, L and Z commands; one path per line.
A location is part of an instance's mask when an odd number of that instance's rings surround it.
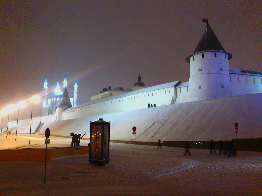
M 44 145 L 42 135 L 0 137 L 1 148 Z M 69 140 L 69 141 L 68 141 Z M 18 143 L 19 142 L 19 143 Z M 80 144 L 85 142 L 81 140 Z M 50 145 L 70 139 L 50 137 Z M 0 195 L 261 195 L 262 153 L 238 151 L 237 157 L 209 150 L 110 143 L 110 162 L 97 166 L 88 155 L 44 162 L 0 162 Z M 1 153 L 1 151 L 0 151 Z

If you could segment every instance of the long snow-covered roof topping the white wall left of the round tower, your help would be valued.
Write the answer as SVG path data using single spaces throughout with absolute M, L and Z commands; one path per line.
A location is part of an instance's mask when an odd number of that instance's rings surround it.
M 102 101 L 109 101 L 111 99 L 118 99 L 118 98 L 121 98 L 121 97 L 134 95 L 134 94 L 138 94 L 138 93 L 146 93 L 146 92 L 149 92 L 149 91 L 154 91 L 154 90 L 159 90 L 159 89 L 164 89 L 164 88 L 169 88 L 169 87 L 177 87 L 177 85 L 179 85 L 180 83 L 181 83 L 180 81 L 175 81 L 175 82 L 160 84 L 160 85 L 147 87 L 147 88 L 143 88 L 143 89 L 127 92 L 127 93 L 122 93 L 120 95 L 114 95 L 114 96 L 106 97 L 106 98 L 103 98 L 103 99 L 100 99 L 100 100 L 84 103 L 84 104 L 78 105 L 76 107 L 68 108 L 66 111 L 69 111 L 69 110 L 75 109 L 75 108 L 79 108 L 79 107 L 83 107 L 83 106 L 86 106 L 86 105 L 90 105 L 90 104 L 93 104 L 93 103 L 100 103 Z

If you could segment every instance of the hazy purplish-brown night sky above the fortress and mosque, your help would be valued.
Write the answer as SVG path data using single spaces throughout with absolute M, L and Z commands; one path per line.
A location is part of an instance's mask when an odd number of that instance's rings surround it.
M 233 55 L 230 67 L 262 70 L 261 1 L 0 1 L 0 11 L 0 110 L 41 93 L 46 74 L 51 91 L 66 73 L 69 96 L 77 78 L 78 105 L 108 86 L 132 87 L 139 74 L 146 87 L 186 82 L 203 18 Z M 19 115 L 30 118 L 31 104 Z

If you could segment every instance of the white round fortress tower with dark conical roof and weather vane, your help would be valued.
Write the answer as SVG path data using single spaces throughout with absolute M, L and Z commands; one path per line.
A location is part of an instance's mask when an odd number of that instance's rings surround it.
M 186 58 L 189 64 L 189 100 L 200 101 L 231 96 L 228 60 L 226 53 L 207 20 L 205 31 L 193 55 Z

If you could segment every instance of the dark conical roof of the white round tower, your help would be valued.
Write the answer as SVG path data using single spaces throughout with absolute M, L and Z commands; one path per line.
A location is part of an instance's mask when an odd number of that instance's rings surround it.
M 225 49 L 223 48 L 223 46 L 217 39 L 214 31 L 212 30 L 212 28 L 209 26 L 208 23 L 206 24 L 206 28 L 198 42 L 198 45 L 196 46 L 196 49 L 193 55 L 202 53 L 202 52 L 206 52 L 206 51 L 221 51 L 221 52 L 228 54 L 228 60 L 232 58 L 232 54 L 227 53 L 225 51 Z M 189 59 L 191 56 L 187 57 L 185 61 L 189 63 Z

